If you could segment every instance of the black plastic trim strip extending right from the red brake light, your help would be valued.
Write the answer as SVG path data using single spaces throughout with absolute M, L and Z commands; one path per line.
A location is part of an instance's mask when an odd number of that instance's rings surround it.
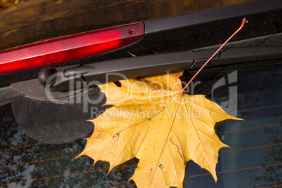
M 281 0 L 248 1 L 243 4 L 221 6 L 205 11 L 197 11 L 194 13 L 145 22 L 145 33 L 149 34 L 151 32 L 159 32 L 166 29 L 174 29 L 176 27 L 186 27 L 187 25 L 199 25 L 205 22 L 227 18 L 242 17 L 243 19 L 246 15 L 262 13 L 269 10 L 274 11 L 280 8 L 282 8 Z

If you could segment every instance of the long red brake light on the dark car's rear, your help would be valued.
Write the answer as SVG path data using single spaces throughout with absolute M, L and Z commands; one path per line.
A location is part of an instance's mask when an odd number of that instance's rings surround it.
M 141 39 L 144 24 L 123 25 L 32 43 L 0 52 L 0 74 L 46 67 L 111 51 Z

